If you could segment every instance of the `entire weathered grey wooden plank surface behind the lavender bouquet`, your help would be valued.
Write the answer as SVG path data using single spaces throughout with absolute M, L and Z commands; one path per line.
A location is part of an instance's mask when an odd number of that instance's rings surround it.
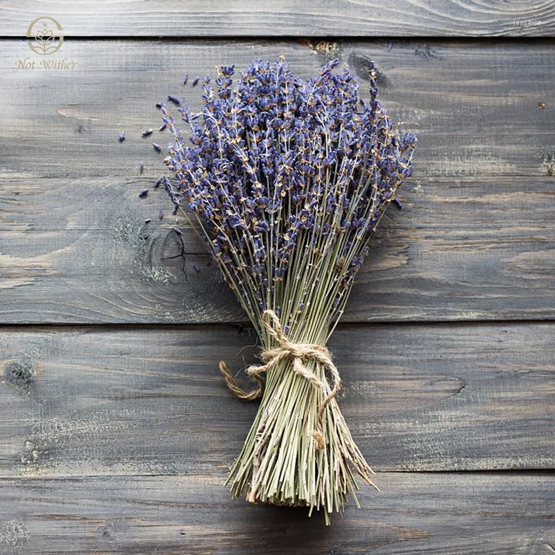
M 553 553 L 552 3 L 44 10 L 0 7 L 0 554 Z M 74 70 L 28 49 L 40 15 Z M 138 198 L 163 170 L 140 137 L 155 102 L 280 54 L 303 77 L 339 57 L 363 87 L 375 60 L 419 139 L 330 342 L 382 491 L 330 528 L 223 487 L 257 407 L 217 363 L 249 364 L 255 338 L 163 192 Z

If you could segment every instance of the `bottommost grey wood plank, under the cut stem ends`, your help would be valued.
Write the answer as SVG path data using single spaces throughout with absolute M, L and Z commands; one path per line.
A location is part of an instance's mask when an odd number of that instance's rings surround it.
M 216 469 L 214 469 L 216 470 Z M 187 555 L 549 555 L 552 475 L 380 474 L 325 528 L 305 509 L 233 501 L 223 475 L 0 480 L 0 549 Z

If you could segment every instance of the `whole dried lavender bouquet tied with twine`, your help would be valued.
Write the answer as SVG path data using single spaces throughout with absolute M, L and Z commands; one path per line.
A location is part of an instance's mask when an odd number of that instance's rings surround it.
M 373 471 L 337 403 L 339 372 L 325 347 L 395 189 L 410 175 L 416 137 L 400 136 L 377 101 L 367 103 L 334 60 L 302 80 L 280 58 L 233 79 L 203 79 L 202 108 L 162 105 L 173 134 L 162 178 L 176 210 L 192 213 L 203 242 L 262 343 L 262 365 L 243 391 L 262 396 L 228 482 L 250 502 L 323 509 L 330 522 L 355 497 L 355 470 Z M 185 210 L 184 210 L 185 209 Z M 186 212 L 187 211 L 187 212 Z M 358 502 L 357 502 L 358 504 Z

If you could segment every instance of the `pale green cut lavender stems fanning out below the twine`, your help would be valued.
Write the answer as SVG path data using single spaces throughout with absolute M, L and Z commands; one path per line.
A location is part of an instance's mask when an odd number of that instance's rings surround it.
M 324 379 L 321 364 L 309 361 L 307 367 Z M 343 511 L 349 494 L 357 502 L 351 466 L 374 485 L 373 471 L 335 398 L 323 415 L 325 447 L 318 450 L 313 432 L 324 398 L 323 391 L 293 372 L 291 361 L 281 361 L 268 372 L 257 416 L 230 470 L 228 484 L 234 496 L 246 492 L 250 502 L 307 506 L 309 513 L 322 509 L 330 524 L 332 513 Z

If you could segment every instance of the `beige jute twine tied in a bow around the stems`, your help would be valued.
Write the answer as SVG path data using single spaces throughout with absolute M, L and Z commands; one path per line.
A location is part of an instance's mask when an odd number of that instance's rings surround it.
M 323 416 L 325 407 L 330 404 L 332 399 L 337 395 L 337 392 L 341 389 L 341 377 L 339 376 L 339 370 L 337 370 L 335 364 L 332 362 L 332 355 L 324 345 L 310 345 L 308 343 L 293 343 L 289 341 L 284 334 L 280 318 L 278 318 L 278 315 L 275 314 L 273 310 L 265 310 L 262 313 L 261 321 L 268 334 L 278 341 L 279 347 L 262 351 L 261 358 L 264 364 L 259 366 L 252 365 L 246 369 L 246 373 L 257 380 L 257 388 L 252 391 L 241 389 L 228 370 L 228 366 L 224 361 L 221 361 L 219 368 L 225 377 L 225 384 L 237 398 L 253 401 L 262 395 L 264 389 L 262 374 L 274 368 L 280 361 L 289 359 L 293 361 L 293 372 L 307 379 L 316 389 L 321 390 L 323 394 L 326 395 L 326 391 L 330 388 L 330 385 L 327 383 L 325 377 L 319 379 L 314 372 L 305 366 L 305 362 L 309 359 L 317 361 L 324 368 L 330 370 L 333 378 L 333 388 L 330 393 L 325 396 L 325 399 L 318 409 L 318 426 L 312 433 L 314 441 L 316 441 L 316 447 L 318 447 L 318 449 L 323 449 L 325 447 L 323 436 Z

